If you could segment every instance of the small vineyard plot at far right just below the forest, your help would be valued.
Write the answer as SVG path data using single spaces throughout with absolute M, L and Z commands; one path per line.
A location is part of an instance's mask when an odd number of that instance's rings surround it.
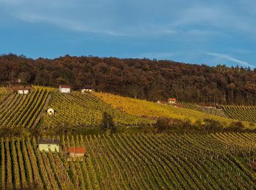
M 223 110 L 230 118 L 256 123 L 256 107 L 223 106 Z

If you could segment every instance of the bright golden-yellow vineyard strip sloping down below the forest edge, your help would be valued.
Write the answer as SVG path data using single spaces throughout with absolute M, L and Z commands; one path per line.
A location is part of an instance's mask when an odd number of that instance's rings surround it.
M 234 120 L 231 118 L 220 117 L 219 115 L 212 115 L 209 113 L 202 113 L 198 110 L 174 107 L 171 105 L 157 104 L 155 102 L 148 102 L 146 100 L 132 99 L 123 96 L 117 96 L 107 93 L 94 93 L 99 99 L 110 104 L 118 110 L 126 113 L 137 115 L 147 118 L 178 118 L 181 120 L 189 119 L 192 122 L 203 121 L 206 118 L 219 121 L 221 123 L 230 124 Z M 249 123 L 244 122 L 244 125 L 248 128 L 252 128 Z

